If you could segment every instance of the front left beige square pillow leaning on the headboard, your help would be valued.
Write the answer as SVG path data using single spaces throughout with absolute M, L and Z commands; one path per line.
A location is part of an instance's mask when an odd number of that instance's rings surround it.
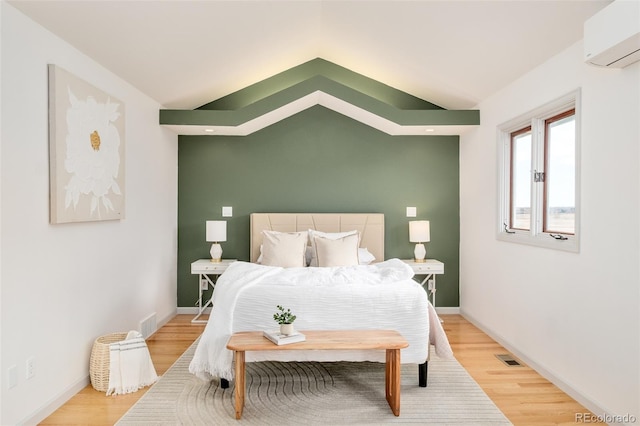
M 307 266 L 307 239 L 306 232 L 262 231 L 261 263 L 283 268 Z

